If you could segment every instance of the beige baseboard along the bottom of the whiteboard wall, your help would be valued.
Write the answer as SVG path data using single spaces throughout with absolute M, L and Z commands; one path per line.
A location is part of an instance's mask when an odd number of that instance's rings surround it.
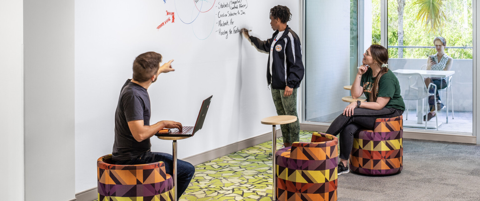
M 282 136 L 282 131 L 280 130 L 280 128 L 278 128 L 276 131 L 276 137 L 278 138 L 281 136 Z M 181 160 L 187 161 L 192 165 L 196 166 L 206 161 L 213 160 L 215 158 L 225 156 L 230 153 L 237 152 L 254 145 L 262 144 L 271 139 L 272 139 L 272 132 L 268 132 L 268 133 L 260 134 L 258 136 L 251 137 L 251 138 L 248 138 L 239 142 L 235 142 L 229 145 L 221 146 L 216 149 L 208 150 L 206 152 L 203 152 L 197 155 L 182 158 Z M 97 187 L 93 187 L 91 189 L 78 192 L 75 194 L 75 197 L 76 199 L 71 201 L 94 201 L 98 197 Z

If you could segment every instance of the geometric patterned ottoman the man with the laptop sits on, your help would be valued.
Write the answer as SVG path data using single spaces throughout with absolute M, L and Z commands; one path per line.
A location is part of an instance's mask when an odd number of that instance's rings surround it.
M 112 155 L 97 160 L 98 201 L 172 201 L 173 179 L 165 164 L 113 165 Z

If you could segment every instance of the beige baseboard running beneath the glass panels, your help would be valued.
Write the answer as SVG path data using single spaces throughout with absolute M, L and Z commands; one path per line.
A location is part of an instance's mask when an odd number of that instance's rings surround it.
M 310 123 L 300 123 L 300 130 L 325 132 L 329 125 L 317 125 Z M 438 133 L 423 133 L 417 131 L 403 131 L 403 138 L 417 139 L 417 140 L 432 140 L 442 142 L 455 143 L 469 143 L 477 144 L 477 137 L 462 134 L 438 134 Z

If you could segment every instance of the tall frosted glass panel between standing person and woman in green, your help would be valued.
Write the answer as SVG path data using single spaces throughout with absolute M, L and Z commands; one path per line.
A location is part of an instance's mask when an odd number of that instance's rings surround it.
M 350 1 L 306 1 L 306 120 L 345 108 L 349 95 Z

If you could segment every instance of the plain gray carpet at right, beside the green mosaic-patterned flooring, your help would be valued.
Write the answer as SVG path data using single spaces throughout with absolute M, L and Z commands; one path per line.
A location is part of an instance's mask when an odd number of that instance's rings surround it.
M 403 170 L 338 176 L 338 201 L 480 201 L 480 145 L 404 139 Z

